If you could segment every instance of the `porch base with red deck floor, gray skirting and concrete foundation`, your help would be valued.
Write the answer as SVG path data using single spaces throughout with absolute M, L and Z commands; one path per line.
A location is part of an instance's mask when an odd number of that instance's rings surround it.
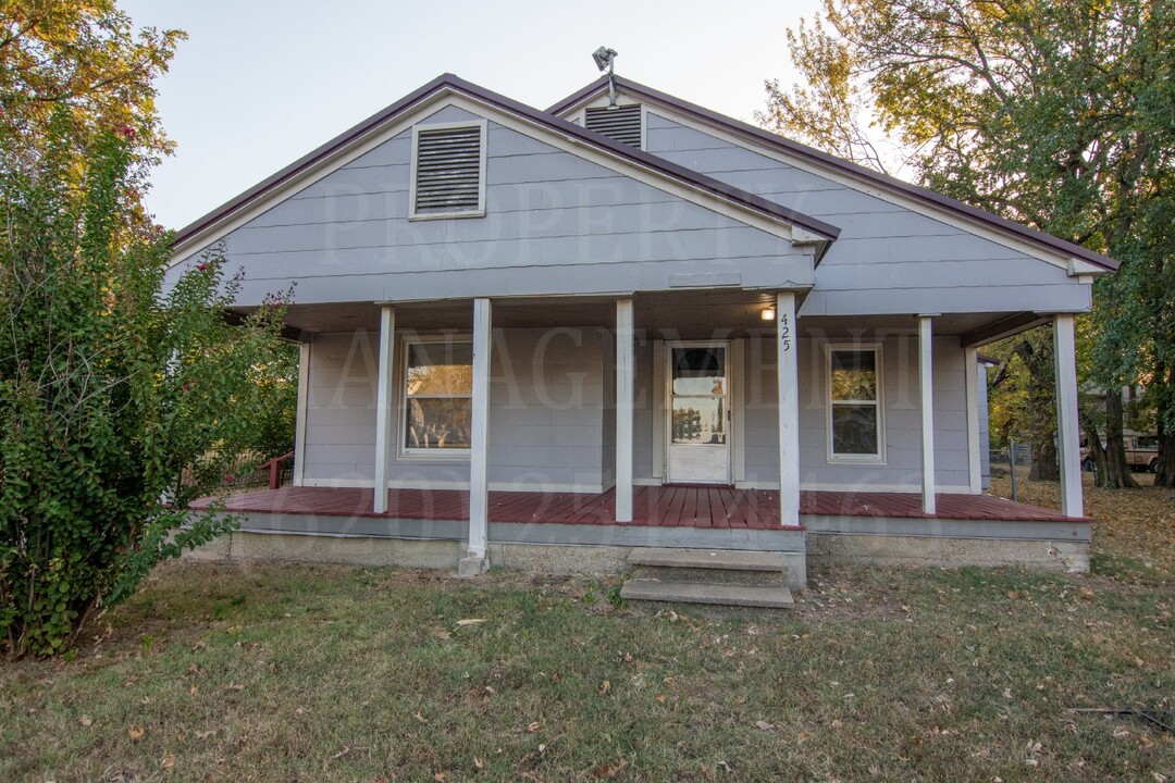
M 387 509 L 360 487 L 281 487 L 223 499 L 247 517 L 222 556 L 451 568 L 464 554 L 465 490 L 391 490 Z M 1088 567 L 1090 521 L 989 495 L 940 494 L 934 515 L 919 493 L 803 491 L 800 525 L 781 524 L 778 493 L 725 486 L 643 486 L 633 519 L 616 519 L 616 492 L 490 492 L 488 556 L 537 571 L 627 571 L 650 547 L 771 552 L 788 585 L 808 563 Z M 196 504 L 208 508 L 213 499 Z

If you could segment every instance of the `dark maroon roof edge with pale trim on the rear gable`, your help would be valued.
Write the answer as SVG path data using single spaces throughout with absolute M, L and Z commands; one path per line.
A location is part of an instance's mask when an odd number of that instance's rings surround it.
M 1026 239 L 1039 247 L 1047 248 L 1055 252 L 1062 252 L 1073 258 L 1088 262 L 1104 270 L 1114 271 L 1119 266 L 1119 262 L 1103 256 L 1099 252 L 1094 252 L 1087 248 L 1082 248 L 1079 244 L 1072 242 L 1066 242 L 1065 239 L 1059 239 L 1055 236 L 1045 234 L 1043 231 L 1038 231 L 1036 229 L 1030 229 L 1027 225 L 1016 223 L 1015 221 L 1009 221 L 1006 217 L 1000 217 L 982 209 L 978 209 L 969 204 L 965 204 L 961 201 L 955 201 L 944 196 L 940 193 L 935 193 L 929 188 L 922 188 L 909 182 L 904 182 L 895 177 L 880 174 L 872 169 L 867 169 L 864 166 L 858 166 L 850 161 L 837 157 L 835 155 L 830 155 L 828 153 L 820 151 L 814 147 L 808 147 L 807 144 L 801 144 L 797 141 L 792 141 L 785 136 L 773 134 L 770 130 L 764 130 L 763 128 L 757 128 L 756 126 L 748 124 L 746 122 L 740 122 L 718 112 L 713 112 L 705 107 L 698 106 L 696 103 L 690 103 L 667 93 L 653 89 L 651 87 L 645 87 L 638 82 L 630 79 L 623 79 L 616 76 L 616 86 L 624 93 L 632 97 L 650 101 L 652 103 L 662 103 L 670 107 L 682 114 L 700 120 L 701 122 L 711 126 L 718 126 L 719 128 L 740 136 L 752 143 L 765 146 L 767 148 L 780 150 L 788 155 L 794 155 L 795 157 L 811 161 L 819 166 L 833 169 L 835 171 L 842 173 L 855 180 L 866 182 L 868 184 L 884 188 L 886 190 L 897 191 L 916 201 L 931 204 L 933 207 L 956 212 L 978 223 L 989 225 L 992 228 L 999 229 L 1012 234 L 1021 239 Z M 583 103 L 603 90 L 607 89 L 607 76 L 602 76 L 595 82 L 588 85 L 583 89 L 578 90 L 563 99 L 555 106 L 548 109 L 551 114 L 563 114 L 568 109 Z

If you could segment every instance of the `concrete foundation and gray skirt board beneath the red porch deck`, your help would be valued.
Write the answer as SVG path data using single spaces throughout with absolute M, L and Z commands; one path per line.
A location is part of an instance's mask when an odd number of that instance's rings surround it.
M 253 520 L 250 520 L 253 521 Z M 787 587 L 800 590 L 807 585 L 807 563 L 861 563 L 875 566 L 1019 566 L 1056 572 L 1089 571 L 1089 526 L 1079 524 L 1022 524 L 991 521 L 810 518 L 808 531 L 787 532 L 763 541 L 744 542 L 740 548 L 779 554 L 787 565 Z M 505 527 L 516 536 L 557 538 L 569 526 Z M 593 527 L 593 526 L 578 526 Z M 573 531 L 577 536 L 585 534 Z M 589 531 L 595 532 L 595 531 Z M 464 558 L 464 544 L 450 531 L 432 531 L 442 538 L 392 538 L 389 535 L 324 534 L 276 529 L 239 531 L 222 536 L 195 552 L 184 554 L 190 560 L 206 561 L 289 561 L 338 562 L 363 566 L 400 566 L 404 568 L 434 568 L 457 572 L 463 576 L 484 573 L 486 566 L 503 566 L 524 572 L 546 574 L 616 574 L 627 573 L 633 546 L 665 546 L 667 541 L 649 535 L 640 541 L 642 528 L 620 528 L 632 541 L 612 540 L 544 542 L 494 541 L 486 548 L 486 559 L 476 562 Z M 728 533 L 730 531 L 703 531 Z M 454 531 L 452 533 L 456 533 Z M 689 532 L 687 532 L 689 533 Z M 758 533 L 764 533 L 759 531 Z M 711 536 L 721 544 L 721 536 Z M 670 546 L 712 546 L 710 538 L 687 534 L 673 539 Z M 747 546 L 747 545 L 751 546 Z M 772 548 L 780 544 L 794 546 L 793 551 Z M 758 545 L 758 546 L 756 546 Z

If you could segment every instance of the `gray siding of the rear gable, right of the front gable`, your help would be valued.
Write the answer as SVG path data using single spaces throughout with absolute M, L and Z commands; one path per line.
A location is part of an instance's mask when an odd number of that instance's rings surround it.
M 800 315 L 1087 310 L 1066 270 L 649 113 L 649 151 L 840 228 Z

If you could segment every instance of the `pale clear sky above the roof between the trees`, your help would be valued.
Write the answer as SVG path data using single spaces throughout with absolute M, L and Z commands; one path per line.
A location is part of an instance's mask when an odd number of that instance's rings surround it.
M 785 33 L 819 0 L 122 0 L 188 33 L 156 82 L 176 142 L 148 208 L 182 228 L 442 73 L 537 108 L 616 72 L 740 120 L 794 81 Z

